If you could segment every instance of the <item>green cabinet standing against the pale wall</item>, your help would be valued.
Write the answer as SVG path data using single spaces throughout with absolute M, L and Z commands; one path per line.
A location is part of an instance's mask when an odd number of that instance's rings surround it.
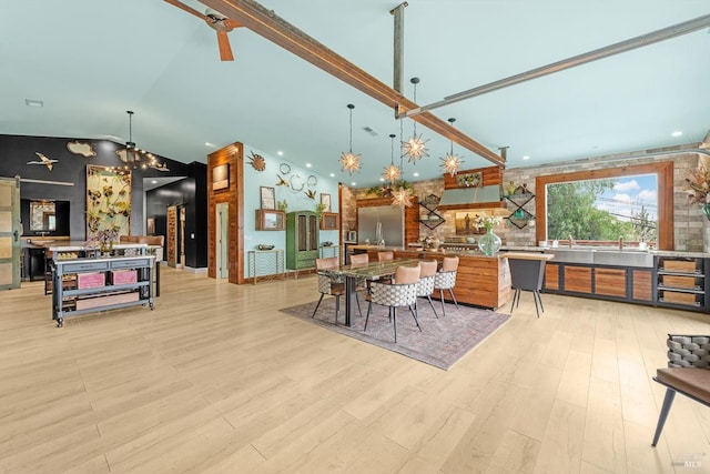
M 313 211 L 286 214 L 286 269 L 315 268 L 318 258 L 318 215 Z

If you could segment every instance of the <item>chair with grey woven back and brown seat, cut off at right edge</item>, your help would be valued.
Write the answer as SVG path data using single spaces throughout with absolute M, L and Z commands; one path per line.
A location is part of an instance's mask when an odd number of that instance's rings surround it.
M 656 446 L 676 393 L 710 406 L 710 335 L 668 334 L 668 367 L 658 369 L 653 380 L 666 387 L 651 446 Z

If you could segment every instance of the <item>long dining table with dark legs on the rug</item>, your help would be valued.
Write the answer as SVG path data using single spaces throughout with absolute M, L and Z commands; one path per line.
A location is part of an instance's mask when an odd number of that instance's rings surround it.
M 416 259 L 394 259 L 383 262 L 369 262 L 365 264 L 347 264 L 336 268 L 320 270 L 320 273 L 332 279 L 345 279 L 345 325 L 351 326 L 353 307 L 356 303 L 357 282 L 363 280 L 377 281 L 395 274 L 397 266 L 417 266 Z

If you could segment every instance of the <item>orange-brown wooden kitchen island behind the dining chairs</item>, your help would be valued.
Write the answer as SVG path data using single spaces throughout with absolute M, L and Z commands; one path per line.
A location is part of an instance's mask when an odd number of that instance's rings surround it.
M 459 303 L 497 309 L 510 301 L 510 270 L 505 253 L 486 256 L 473 252 L 429 252 L 424 250 L 398 250 L 396 259 L 436 260 L 458 256 L 458 272 L 454 294 Z M 439 297 L 435 293 L 436 297 Z

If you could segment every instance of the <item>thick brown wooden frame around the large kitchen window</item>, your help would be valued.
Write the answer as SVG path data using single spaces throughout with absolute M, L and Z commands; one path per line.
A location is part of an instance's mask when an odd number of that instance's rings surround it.
M 535 179 L 536 225 L 538 242 L 547 240 L 547 185 L 570 181 L 623 178 L 636 174 L 656 174 L 658 179 L 658 249 L 673 250 L 673 162 L 635 164 L 620 168 L 576 171 L 570 173 L 547 174 Z

